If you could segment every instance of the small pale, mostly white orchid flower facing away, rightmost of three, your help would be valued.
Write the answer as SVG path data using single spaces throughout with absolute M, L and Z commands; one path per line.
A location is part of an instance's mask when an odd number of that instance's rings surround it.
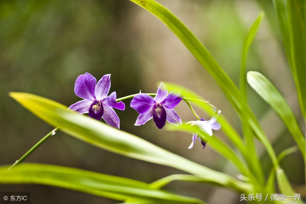
M 217 118 L 215 117 L 216 114 L 216 109 L 213 108 L 214 110 L 214 114 L 212 115 L 210 120 L 205 120 L 203 118 L 201 118 L 201 120 L 197 120 L 197 121 L 189 121 L 186 124 L 190 124 L 190 125 L 196 125 L 198 126 L 201 130 L 203 130 L 204 132 L 206 132 L 209 136 L 212 136 L 212 130 L 219 130 L 221 128 L 221 124 L 217 121 Z M 218 115 L 221 113 L 220 110 L 218 110 Z M 203 140 L 201 140 L 201 138 L 199 137 L 198 133 L 193 133 L 192 135 L 192 142 L 189 145 L 188 149 L 191 149 L 193 147 L 193 144 L 196 142 L 196 139 L 199 138 L 199 141 L 201 141 L 202 145 L 203 145 L 203 149 L 206 145 L 206 142 L 204 142 Z

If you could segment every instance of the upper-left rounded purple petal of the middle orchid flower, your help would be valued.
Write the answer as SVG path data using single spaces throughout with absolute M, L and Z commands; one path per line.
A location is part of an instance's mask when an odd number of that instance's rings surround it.
M 155 103 L 155 100 L 151 96 L 145 93 L 140 93 L 134 96 L 130 106 L 134 108 L 139 114 L 142 114 L 152 108 Z

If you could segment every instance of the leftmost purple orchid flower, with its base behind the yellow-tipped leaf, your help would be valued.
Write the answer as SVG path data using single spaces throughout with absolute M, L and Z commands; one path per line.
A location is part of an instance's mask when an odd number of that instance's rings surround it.
M 125 109 L 125 104 L 116 101 L 116 92 L 107 96 L 110 91 L 110 74 L 104 75 L 97 83 L 95 77 L 85 73 L 77 77 L 74 84 L 74 93 L 83 98 L 68 109 L 77 111 L 80 114 L 89 113 L 89 117 L 105 122 L 113 127 L 119 128 L 120 120 L 113 108 Z

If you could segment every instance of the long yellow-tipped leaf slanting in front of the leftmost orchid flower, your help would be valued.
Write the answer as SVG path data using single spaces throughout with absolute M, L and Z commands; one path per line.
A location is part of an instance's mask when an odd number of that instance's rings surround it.
M 54 127 L 91 145 L 108 151 L 156 164 L 206 176 L 210 183 L 236 191 L 244 190 L 244 183 L 221 172 L 192 162 L 162 149 L 135 135 L 79 115 L 55 101 L 29 93 L 10 93 L 21 105 Z

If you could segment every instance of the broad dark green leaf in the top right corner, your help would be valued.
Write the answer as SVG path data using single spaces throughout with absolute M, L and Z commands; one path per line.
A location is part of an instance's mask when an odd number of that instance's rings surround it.
M 288 62 L 306 120 L 306 31 L 304 0 L 274 0 Z

